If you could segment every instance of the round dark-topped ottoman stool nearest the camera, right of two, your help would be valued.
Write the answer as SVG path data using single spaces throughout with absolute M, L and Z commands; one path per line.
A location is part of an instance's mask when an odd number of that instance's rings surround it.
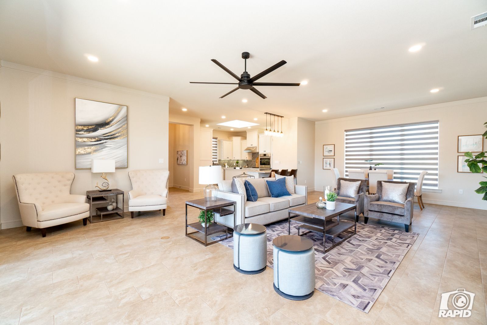
M 291 300 L 305 300 L 315 292 L 313 241 L 296 235 L 279 236 L 274 244 L 274 290 Z

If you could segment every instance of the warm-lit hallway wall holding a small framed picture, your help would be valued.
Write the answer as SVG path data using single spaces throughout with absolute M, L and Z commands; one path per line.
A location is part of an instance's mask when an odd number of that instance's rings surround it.
M 176 163 L 176 151 L 187 150 L 187 159 L 190 159 L 190 128 L 189 125 L 169 123 L 169 186 L 185 190 L 189 190 L 189 163 L 187 165 L 178 165 Z

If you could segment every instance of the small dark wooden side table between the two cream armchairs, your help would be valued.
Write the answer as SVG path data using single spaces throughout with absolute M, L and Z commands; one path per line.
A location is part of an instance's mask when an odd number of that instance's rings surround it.
M 118 204 L 118 196 L 122 196 L 122 207 Z M 110 204 L 110 197 L 115 196 L 117 207 L 109 211 L 107 206 Z M 105 198 L 108 197 L 108 198 Z M 114 219 L 123 219 L 125 212 L 125 193 L 121 189 L 114 188 L 110 191 L 86 191 L 86 200 L 90 204 L 90 217 L 88 220 L 90 223 L 99 223 L 102 221 L 109 221 Z M 93 204 L 107 203 L 105 206 L 96 207 L 95 214 L 93 215 Z M 104 216 L 110 215 L 108 218 Z

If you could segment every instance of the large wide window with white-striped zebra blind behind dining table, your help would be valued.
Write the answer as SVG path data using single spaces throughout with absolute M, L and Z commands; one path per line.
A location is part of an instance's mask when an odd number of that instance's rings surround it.
M 434 121 L 345 130 L 345 175 L 372 165 L 393 169 L 394 181 L 416 183 L 426 170 L 423 187 L 438 188 L 438 129 Z

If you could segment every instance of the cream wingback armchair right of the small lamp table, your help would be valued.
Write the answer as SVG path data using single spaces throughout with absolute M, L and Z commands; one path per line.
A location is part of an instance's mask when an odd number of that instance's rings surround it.
M 129 192 L 129 211 L 161 210 L 166 215 L 168 207 L 169 170 L 131 170 L 129 179 L 132 190 Z

